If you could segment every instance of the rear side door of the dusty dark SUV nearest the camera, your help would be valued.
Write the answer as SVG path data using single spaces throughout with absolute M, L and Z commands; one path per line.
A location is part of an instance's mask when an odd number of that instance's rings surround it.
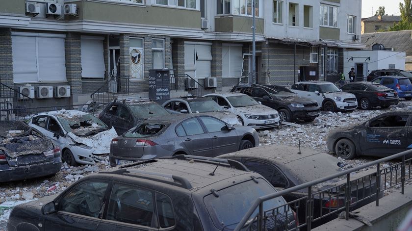
M 157 217 L 156 198 L 165 200 L 166 210 L 158 212 L 166 214 L 166 218 Z M 96 231 L 156 231 L 157 221 L 164 228 L 173 227 L 175 224 L 172 202 L 163 194 L 154 193 L 153 190 L 138 185 L 115 182 L 107 198 L 107 207 L 103 220 Z M 161 204 L 160 204 L 161 205 Z M 166 221 L 166 223 L 165 223 Z

